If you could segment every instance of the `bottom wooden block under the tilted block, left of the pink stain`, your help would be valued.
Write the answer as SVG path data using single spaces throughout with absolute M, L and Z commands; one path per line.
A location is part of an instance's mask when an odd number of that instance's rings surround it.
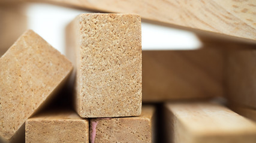
M 26 143 L 89 143 L 89 120 L 74 111 L 55 110 L 26 120 Z

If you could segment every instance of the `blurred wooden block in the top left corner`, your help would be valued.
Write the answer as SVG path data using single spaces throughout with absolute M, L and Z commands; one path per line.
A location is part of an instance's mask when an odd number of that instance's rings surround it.
M 27 29 L 25 9 L 24 4 L 0 2 L 0 57 Z

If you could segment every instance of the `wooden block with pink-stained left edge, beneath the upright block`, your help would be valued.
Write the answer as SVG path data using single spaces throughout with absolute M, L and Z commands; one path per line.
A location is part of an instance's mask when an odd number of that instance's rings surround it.
M 153 142 L 154 113 L 152 106 L 143 106 L 138 117 L 91 119 L 91 143 Z

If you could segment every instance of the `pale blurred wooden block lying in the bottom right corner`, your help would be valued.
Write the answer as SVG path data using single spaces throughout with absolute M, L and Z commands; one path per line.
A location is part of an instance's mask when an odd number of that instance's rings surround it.
M 256 141 L 256 124 L 227 107 L 210 102 L 164 106 L 168 142 L 213 143 Z

